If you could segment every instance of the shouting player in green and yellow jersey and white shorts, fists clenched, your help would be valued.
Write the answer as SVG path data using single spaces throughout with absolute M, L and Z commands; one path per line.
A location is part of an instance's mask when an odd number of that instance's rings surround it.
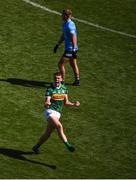
M 71 145 L 64 133 L 63 126 L 59 121 L 62 106 L 80 106 L 80 102 L 70 102 L 68 99 L 68 90 L 65 85 L 61 84 L 62 75 L 60 72 L 54 74 L 54 83 L 46 91 L 45 98 L 45 116 L 47 119 L 47 128 L 43 135 L 38 140 L 37 144 L 33 146 L 33 151 L 38 154 L 40 146 L 47 141 L 54 129 L 57 129 L 60 139 L 63 141 L 67 149 L 71 152 L 75 151 L 73 145 Z

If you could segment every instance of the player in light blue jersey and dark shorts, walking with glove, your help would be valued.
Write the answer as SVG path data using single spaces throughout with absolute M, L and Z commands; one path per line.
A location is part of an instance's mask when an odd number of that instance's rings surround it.
M 54 53 L 57 52 L 57 49 L 61 43 L 64 42 L 65 51 L 58 63 L 59 70 L 62 73 L 63 81 L 65 81 L 65 64 L 69 62 L 75 75 L 75 81 L 73 82 L 73 85 L 80 86 L 79 68 L 77 65 L 77 30 L 75 23 L 71 20 L 71 17 L 71 10 L 66 9 L 62 11 L 62 19 L 64 21 L 63 32 L 58 40 L 58 43 L 54 47 Z

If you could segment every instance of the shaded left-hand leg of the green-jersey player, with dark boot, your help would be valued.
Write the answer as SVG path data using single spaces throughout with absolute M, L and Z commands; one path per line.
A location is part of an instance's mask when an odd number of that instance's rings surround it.
M 33 146 L 33 151 L 36 153 L 36 154 L 39 154 L 40 150 L 40 146 L 45 143 L 48 138 L 50 137 L 51 133 L 53 132 L 53 130 L 55 129 L 55 127 L 52 125 L 52 123 L 50 121 L 48 121 L 48 124 L 47 124 L 47 128 L 45 130 L 45 132 L 42 134 L 42 136 L 39 138 L 38 142 L 36 145 Z

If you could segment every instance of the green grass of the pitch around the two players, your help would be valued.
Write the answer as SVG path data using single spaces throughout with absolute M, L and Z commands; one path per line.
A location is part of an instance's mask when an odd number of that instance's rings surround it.
M 81 106 L 64 108 L 61 118 L 76 152 L 55 132 L 40 155 L 29 154 L 46 126 L 43 82 L 52 81 L 63 52 L 52 52 L 61 18 L 21 0 L 0 1 L 0 178 L 136 178 L 136 39 L 76 22 L 81 86 L 68 88 Z M 134 0 L 33 1 L 136 35 Z M 66 81 L 73 81 L 69 66 Z

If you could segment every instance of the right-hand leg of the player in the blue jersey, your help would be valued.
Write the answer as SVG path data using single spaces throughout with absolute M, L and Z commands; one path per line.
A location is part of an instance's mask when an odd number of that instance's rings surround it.
M 74 75 L 75 75 L 75 82 L 73 83 L 73 85 L 80 86 L 79 68 L 77 65 L 77 60 L 75 58 L 71 58 L 70 59 L 70 65 L 71 65 L 71 67 L 74 71 Z

